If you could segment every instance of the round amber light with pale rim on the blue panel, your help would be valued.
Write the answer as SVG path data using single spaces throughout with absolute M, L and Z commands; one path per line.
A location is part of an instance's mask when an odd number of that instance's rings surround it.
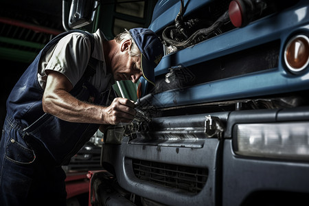
M 288 41 L 284 51 L 284 61 L 292 72 L 305 69 L 309 63 L 309 38 L 305 35 L 297 35 Z

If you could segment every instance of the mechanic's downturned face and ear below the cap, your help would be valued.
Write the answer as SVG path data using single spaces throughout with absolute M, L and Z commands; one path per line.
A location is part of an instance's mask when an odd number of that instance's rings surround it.
M 120 45 L 119 51 L 113 56 L 111 67 L 116 81 L 131 80 L 136 83 L 142 76 L 141 56 L 130 56 L 131 41 L 125 41 Z

